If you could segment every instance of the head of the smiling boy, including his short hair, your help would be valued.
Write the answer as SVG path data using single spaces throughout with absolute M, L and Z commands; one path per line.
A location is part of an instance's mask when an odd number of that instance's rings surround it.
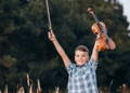
M 89 61 L 89 50 L 86 45 L 78 45 L 75 50 L 75 62 L 81 66 Z

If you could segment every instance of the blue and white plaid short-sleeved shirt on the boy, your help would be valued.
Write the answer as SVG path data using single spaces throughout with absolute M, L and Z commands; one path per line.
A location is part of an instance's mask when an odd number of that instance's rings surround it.
M 90 59 L 83 66 L 70 62 L 68 71 L 68 93 L 99 93 L 95 70 L 98 62 Z

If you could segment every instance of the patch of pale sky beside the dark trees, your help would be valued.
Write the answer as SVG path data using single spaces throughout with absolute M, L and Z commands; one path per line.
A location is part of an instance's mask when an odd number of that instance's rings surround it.
M 130 29 L 130 0 L 119 0 L 119 2 L 123 6 L 123 15 L 127 16 L 127 21 L 129 22 L 128 29 Z

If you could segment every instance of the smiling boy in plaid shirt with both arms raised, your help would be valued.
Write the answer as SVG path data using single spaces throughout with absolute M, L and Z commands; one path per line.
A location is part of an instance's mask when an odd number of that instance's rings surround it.
M 89 50 L 84 45 L 79 45 L 75 50 L 75 62 L 72 63 L 63 48 L 56 40 L 53 31 L 49 31 L 49 39 L 54 44 L 57 53 L 62 57 L 68 72 L 68 93 L 99 93 L 96 87 L 95 70 L 98 66 L 99 52 L 95 41 L 91 58 L 89 59 Z M 108 45 L 109 46 L 109 45 Z

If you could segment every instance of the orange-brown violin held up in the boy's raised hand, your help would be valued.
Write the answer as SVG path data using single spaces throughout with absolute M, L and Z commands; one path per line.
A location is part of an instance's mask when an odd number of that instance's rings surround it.
M 92 25 L 92 31 L 96 35 L 96 39 L 99 40 L 96 45 L 98 51 L 114 50 L 116 44 L 113 39 L 108 37 L 105 24 L 99 21 L 92 9 L 89 8 L 88 12 L 94 17 L 95 21 Z

